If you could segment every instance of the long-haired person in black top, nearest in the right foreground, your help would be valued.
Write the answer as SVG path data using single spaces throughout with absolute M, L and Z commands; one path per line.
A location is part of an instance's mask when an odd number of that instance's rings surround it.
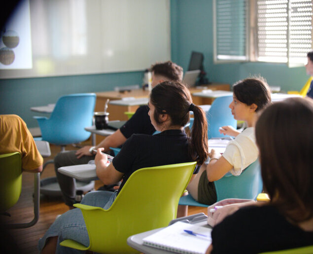
M 207 254 L 263 253 L 313 245 L 312 127 L 313 101 L 308 98 L 289 98 L 263 111 L 255 136 L 270 201 L 218 208 L 212 216 L 217 225 Z

